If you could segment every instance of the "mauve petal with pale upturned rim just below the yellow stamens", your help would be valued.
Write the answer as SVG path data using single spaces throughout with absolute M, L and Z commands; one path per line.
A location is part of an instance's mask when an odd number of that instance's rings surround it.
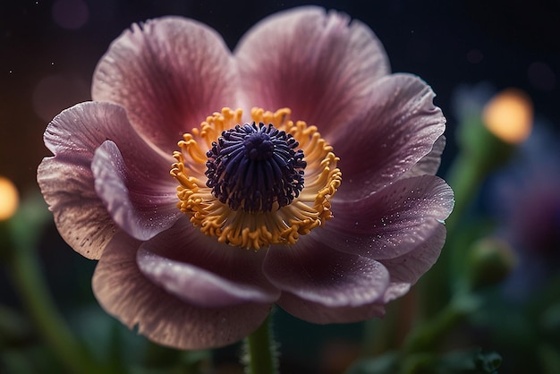
M 193 305 L 270 303 L 276 302 L 280 290 L 262 274 L 265 252 L 219 243 L 184 217 L 142 244 L 138 264 L 152 282 Z

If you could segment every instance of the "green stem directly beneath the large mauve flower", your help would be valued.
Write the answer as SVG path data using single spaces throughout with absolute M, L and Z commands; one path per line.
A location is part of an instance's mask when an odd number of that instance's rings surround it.
M 276 343 L 270 331 L 270 316 L 245 338 L 246 374 L 277 374 Z

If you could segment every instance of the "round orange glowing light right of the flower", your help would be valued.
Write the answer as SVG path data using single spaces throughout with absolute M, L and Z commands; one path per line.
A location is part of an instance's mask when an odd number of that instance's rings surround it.
M 488 101 L 482 120 L 489 132 L 507 143 L 527 139 L 533 122 L 530 98 L 519 89 L 505 89 Z

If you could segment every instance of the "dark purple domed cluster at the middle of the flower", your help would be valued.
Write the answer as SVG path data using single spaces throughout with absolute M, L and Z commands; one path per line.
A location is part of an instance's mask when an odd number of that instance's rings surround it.
M 284 207 L 303 189 L 303 151 L 272 123 L 245 123 L 222 132 L 208 150 L 206 185 L 233 210 L 255 213 Z

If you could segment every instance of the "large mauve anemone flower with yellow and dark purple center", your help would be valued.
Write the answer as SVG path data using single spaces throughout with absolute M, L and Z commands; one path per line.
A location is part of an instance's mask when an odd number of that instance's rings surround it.
M 49 123 L 38 183 L 64 240 L 99 259 L 98 302 L 159 344 L 233 343 L 275 303 L 370 319 L 445 241 L 434 96 L 341 13 L 274 14 L 233 52 L 159 18 L 125 30 L 93 101 Z

